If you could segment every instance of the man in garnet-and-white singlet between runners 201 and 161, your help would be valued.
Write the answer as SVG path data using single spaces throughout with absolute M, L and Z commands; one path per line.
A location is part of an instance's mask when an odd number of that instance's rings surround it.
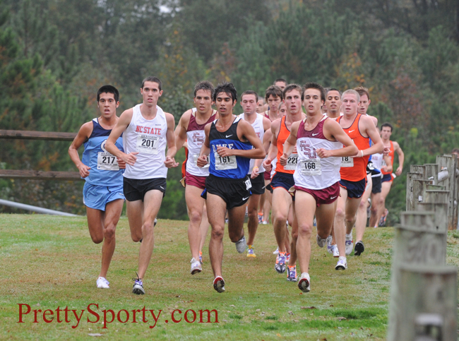
M 188 208 L 189 227 L 188 241 L 191 250 L 191 275 L 200 273 L 201 251 L 208 231 L 207 215 L 203 215 L 205 200 L 201 193 L 205 189 L 205 179 L 209 175 L 208 167 L 198 167 L 197 161 L 203 146 L 206 124 L 215 120 L 217 111 L 212 109 L 213 85 L 208 81 L 199 82 L 194 87 L 193 101 L 196 111 L 185 112 L 175 129 L 176 145 L 179 150 L 187 143 L 185 176 L 185 201 Z

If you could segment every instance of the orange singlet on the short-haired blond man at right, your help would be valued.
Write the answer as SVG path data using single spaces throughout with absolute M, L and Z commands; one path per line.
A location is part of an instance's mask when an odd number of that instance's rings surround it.
M 349 136 L 359 150 L 370 148 L 370 138 L 365 138 L 359 131 L 359 121 L 361 114 L 357 114 L 349 128 L 342 128 Z M 341 121 L 342 116 L 336 121 Z M 344 146 L 345 147 L 345 146 Z M 341 179 L 347 181 L 361 181 L 366 178 L 366 164 L 368 164 L 369 155 L 364 157 L 342 157 L 340 175 Z

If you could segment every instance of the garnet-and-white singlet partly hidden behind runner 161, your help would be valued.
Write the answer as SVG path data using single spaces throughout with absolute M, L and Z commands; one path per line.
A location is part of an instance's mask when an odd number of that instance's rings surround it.
M 195 111 L 190 116 L 188 128 L 186 128 L 186 143 L 188 143 L 188 156 L 186 159 L 186 172 L 196 177 L 208 177 L 209 175 L 209 164 L 205 167 L 198 167 L 196 164 L 201 147 L 205 140 L 204 128 L 206 124 L 213 122 L 216 110 L 213 110 L 212 115 L 205 124 L 198 124 L 196 121 Z

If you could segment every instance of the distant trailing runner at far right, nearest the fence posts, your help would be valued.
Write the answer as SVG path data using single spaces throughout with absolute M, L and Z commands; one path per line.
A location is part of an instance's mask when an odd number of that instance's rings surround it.
M 391 159 L 391 166 L 393 167 L 393 159 L 395 156 L 395 152 L 398 154 L 398 168 L 395 170 L 395 176 L 399 177 L 400 174 L 403 172 L 403 162 L 405 161 L 405 154 L 403 153 L 402 148 L 400 145 L 395 142 L 391 141 L 393 127 L 389 123 L 385 123 L 381 125 L 381 138 L 383 140 L 383 144 L 385 148 L 390 148 L 389 158 Z M 386 198 L 391 191 L 392 181 L 395 177 L 392 174 L 392 170 L 388 169 L 389 165 L 386 162 L 383 162 L 383 166 L 381 167 L 381 172 L 383 173 L 383 179 L 381 179 L 381 219 L 379 220 L 380 226 L 386 225 L 387 215 L 389 213 L 388 209 L 386 208 Z

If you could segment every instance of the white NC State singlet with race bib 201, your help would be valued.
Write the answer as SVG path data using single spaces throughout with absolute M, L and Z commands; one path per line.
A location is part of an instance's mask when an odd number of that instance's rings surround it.
M 154 119 L 145 119 L 141 104 L 133 107 L 131 123 L 124 131 L 124 152 L 138 152 L 133 166 L 126 164 L 124 177 L 128 179 L 155 179 L 167 177 L 166 160 L 166 115 L 156 106 Z

